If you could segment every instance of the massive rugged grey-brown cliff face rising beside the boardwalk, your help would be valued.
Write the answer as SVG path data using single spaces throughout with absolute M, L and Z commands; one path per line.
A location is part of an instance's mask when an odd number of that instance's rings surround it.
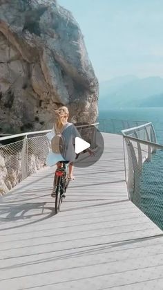
M 50 128 L 53 110 L 97 118 L 98 82 L 81 30 L 54 0 L 0 0 L 0 132 Z

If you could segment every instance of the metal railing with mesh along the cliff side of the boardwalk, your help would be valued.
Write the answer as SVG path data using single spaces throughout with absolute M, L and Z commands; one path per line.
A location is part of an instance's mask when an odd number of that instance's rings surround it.
M 95 146 L 95 126 L 76 126 L 81 137 Z M 0 194 L 46 166 L 50 143 L 46 134 L 51 130 L 26 132 L 0 138 Z

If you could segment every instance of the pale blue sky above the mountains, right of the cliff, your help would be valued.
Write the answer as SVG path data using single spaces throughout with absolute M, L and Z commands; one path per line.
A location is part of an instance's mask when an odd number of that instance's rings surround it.
M 99 82 L 163 78 L 163 0 L 58 0 L 77 20 Z

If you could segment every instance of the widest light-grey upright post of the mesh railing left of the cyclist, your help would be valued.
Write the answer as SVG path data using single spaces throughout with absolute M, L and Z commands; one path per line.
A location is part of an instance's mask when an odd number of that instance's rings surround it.
M 23 147 L 21 150 L 21 180 L 26 179 L 28 177 L 28 138 L 27 135 L 23 139 Z

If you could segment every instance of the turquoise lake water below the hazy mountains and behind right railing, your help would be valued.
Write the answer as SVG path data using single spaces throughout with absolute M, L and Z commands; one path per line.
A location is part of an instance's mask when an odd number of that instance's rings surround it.
M 100 119 L 152 122 L 157 143 L 163 144 L 163 108 L 99 111 Z M 104 125 L 105 128 L 108 126 L 108 132 L 112 132 L 113 129 L 120 132 L 123 129 L 120 127 L 122 122 L 115 121 L 115 124 L 114 128 L 112 122 L 106 122 Z M 124 125 L 127 127 L 128 124 L 124 123 Z M 135 125 L 136 123 L 133 122 L 132 127 Z M 163 151 L 161 150 L 153 155 L 151 162 L 144 163 L 140 179 L 140 196 L 135 197 L 135 205 L 163 230 Z

